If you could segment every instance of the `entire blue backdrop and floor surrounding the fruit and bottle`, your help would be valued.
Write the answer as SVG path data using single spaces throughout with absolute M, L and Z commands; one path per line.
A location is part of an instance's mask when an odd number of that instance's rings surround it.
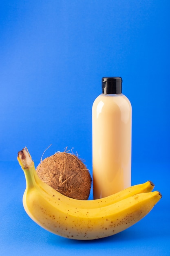
M 170 255 L 170 1 L 0 2 L 2 255 Z M 92 171 L 91 108 L 102 76 L 121 76 L 132 103 L 132 184 L 163 198 L 146 218 L 97 241 L 60 238 L 24 212 L 26 146 L 35 163 L 67 147 Z M 91 195 L 92 198 L 92 195 Z

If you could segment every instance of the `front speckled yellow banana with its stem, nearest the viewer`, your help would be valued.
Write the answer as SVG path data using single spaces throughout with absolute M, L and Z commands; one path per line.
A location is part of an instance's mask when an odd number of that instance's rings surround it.
M 117 234 L 144 218 L 161 199 L 161 194 L 154 191 L 130 195 L 114 203 L 107 197 L 104 198 L 107 204 L 102 207 L 97 199 L 98 207 L 97 204 L 89 207 L 88 200 L 68 198 L 53 189 L 46 191 L 47 184 L 40 186 L 26 148 L 18 153 L 18 162 L 26 178 L 23 195 L 26 213 L 44 229 L 66 238 L 92 240 Z

